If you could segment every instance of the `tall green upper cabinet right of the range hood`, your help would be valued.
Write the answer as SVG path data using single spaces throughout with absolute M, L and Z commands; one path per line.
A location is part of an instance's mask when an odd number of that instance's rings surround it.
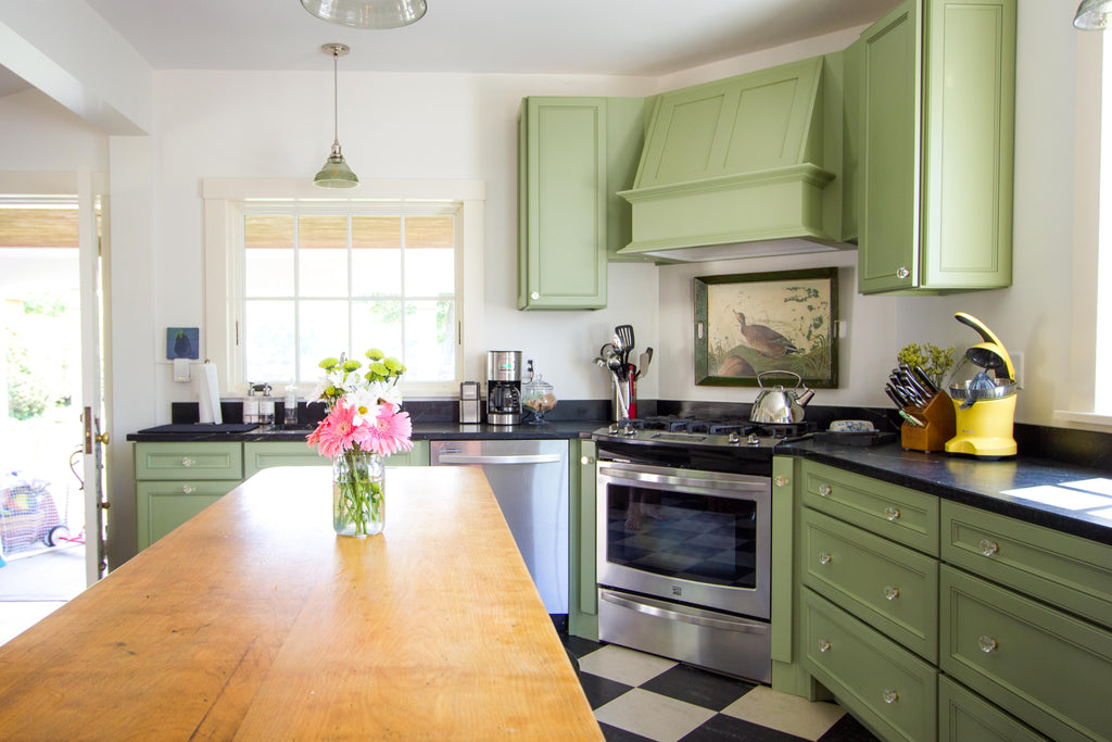
M 1011 285 L 1015 0 L 910 0 L 855 51 L 860 290 Z

